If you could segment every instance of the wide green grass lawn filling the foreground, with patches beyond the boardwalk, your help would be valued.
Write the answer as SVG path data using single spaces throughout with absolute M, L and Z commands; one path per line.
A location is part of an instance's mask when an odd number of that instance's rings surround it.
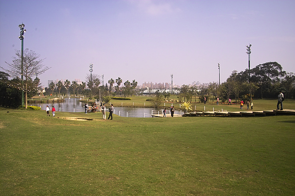
M 56 116 L 0 108 L 0 195 L 295 195 L 295 116 Z

